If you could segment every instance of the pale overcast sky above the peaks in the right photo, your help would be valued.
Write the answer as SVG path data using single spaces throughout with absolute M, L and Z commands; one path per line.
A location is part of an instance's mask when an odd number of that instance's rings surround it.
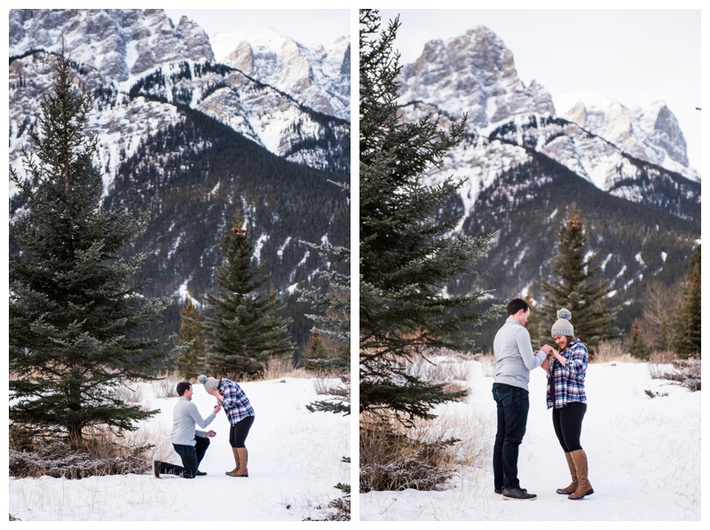
M 483 25 L 512 51 L 525 85 L 553 96 L 600 91 L 626 107 L 665 101 L 700 170 L 699 10 L 380 10 L 400 15 L 395 47 L 403 64 L 424 44 Z

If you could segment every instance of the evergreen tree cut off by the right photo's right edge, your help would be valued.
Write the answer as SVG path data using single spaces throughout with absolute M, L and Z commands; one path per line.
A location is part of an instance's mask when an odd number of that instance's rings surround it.
M 700 356 L 700 245 L 690 257 L 690 275 L 675 320 L 674 350 L 682 359 Z

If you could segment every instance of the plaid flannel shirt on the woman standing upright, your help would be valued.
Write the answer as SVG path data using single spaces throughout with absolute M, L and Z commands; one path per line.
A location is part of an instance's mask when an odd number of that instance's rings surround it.
M 574 339 L 560 352 L 566 360 L 565 366 L 556 358 L 549 364 L 548 373 L 548 408 L 562 408 L 572 401 L 587 403 L 584 392 L 584 377 L 587 373 L 587 346 Z M 550 382 L 554 384 L 555 396 L 550 396 Z

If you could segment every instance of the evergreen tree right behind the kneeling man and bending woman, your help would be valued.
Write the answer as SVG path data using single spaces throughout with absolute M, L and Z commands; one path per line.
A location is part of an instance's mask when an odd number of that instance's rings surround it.
M 264 292 L 264 265 L 252 265 L 254 243 L 239 213 L 222 237 L 222 249 L 225 262 L 215 275 L 217 293 L 207 294 L 202 327 L 210 371 L 238 381 L 263 371 L 270 358 L 291 354 L 294 346 L 288 322 L 279 315 L 280 298 L 273 289 Z

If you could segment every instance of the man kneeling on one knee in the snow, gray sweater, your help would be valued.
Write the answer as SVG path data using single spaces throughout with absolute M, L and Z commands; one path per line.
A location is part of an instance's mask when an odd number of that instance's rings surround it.
M 217 417 L 217 412 L 219 412 L 221 407 L 216 405 L 212 414 L 203 419 L 197 411 L 197 406 L 193 403 L 192 384 L 186 381 L 178 383 L 177 395 L 180 396 L 180 399 L 177 401 L 172 416 L 170 441 L 172 442 L 172 447 L 175 447 L 177 455 L 180 455 L 183 465 L 179 466 L 155 460 L 153 474 L 156 479 L 161 478 L 161 473 L 179 475 L 183 479 L 193 479 L 198 475 L 207 475 L 207 473 L 197 471 L 197 468 L 207 452 L 209 438 L 213 438 L 216 432 L 196 431 L 194 426 L 197 423 L 203 429 L 207 427 Z

